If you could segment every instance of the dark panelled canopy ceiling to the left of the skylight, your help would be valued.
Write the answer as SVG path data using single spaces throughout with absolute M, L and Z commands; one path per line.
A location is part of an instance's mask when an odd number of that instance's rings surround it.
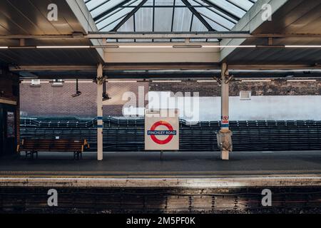
M 79 1 L 79 0 L 76 0 Z M 0 34 L 71 34 L 86 32 L 66 1 L 57 0 L 58 21 L 47 19 L 50 0 L 1 0 Z M 0 40 L 0 46 L 17 46 L 19 40 Z M 26 40 L 27 46 L 91 45 L 87 40 Z M 91 50 L 1 50 L 0 64 L 12 65 L 88 65 L 101 61 L 97 51 Z

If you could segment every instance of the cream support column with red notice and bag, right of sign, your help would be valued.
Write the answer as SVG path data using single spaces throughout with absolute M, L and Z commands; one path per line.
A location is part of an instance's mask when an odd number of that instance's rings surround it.
M 230 134 L 230 116 L 229 116 L 229 73 L 228 64 L 222 64 L 221 73 L 221 128 L 220 134 L 224 135 L 221 137 L 221 158 L 222 160 L 229 160 L 229 152 L 231 151 L 231 140 L 228 134 Z

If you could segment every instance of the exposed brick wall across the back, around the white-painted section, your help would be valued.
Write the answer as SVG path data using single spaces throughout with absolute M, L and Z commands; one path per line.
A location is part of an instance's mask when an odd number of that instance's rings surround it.
M 199 92 L 201 97 L 220 96 L 220 86 L 216 82 L 182 81 L 108 83 L 107 92 L 111 100 L 105 102 L 105 116 L 120 116 L 126 100 L 124 93 L 131 91 L 138 96 L 138 86 L 142 86 L 144 95 L 149 91 Z M 62 87 L 53 87 L 49 81 L 41 81 L 40 87 L 31 87 L 31 81 L 21 83 L 21 111 L 29 116 L 96 116 L 96 84 L 92 81 L 80 81 L 82 95 L 72 98 L 76 91 L 75 81 L 66 81 Z M 268 82 L 230 83 L 230 96 L 238 96 L 240 91 L 252 91 L 252 95 L 320 95 L 321 81 L 290 82 L 273 80 Z M 145 103 L 146 105 L 146 103 Z

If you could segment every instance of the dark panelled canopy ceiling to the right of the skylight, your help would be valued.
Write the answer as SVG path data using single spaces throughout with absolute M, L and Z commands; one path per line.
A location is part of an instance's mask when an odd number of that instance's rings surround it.
M 288 1 L 254 33 L 321 33 L 321 0 Z M 244 45 L 265 44 L 248 39 Z M 320 38 L 275 38 L 275 45 L 321 45 Z M 320 64 L 321 48 L 238 48 L 225 59 L 230 64 Z

